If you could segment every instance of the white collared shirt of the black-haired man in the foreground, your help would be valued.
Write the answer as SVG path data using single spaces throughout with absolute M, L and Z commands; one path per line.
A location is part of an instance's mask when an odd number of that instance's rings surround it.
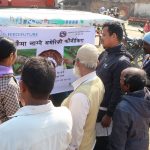
M 24 106 L 0 125 L 1 150 L 66 150 L 72 117 L 65 107 Z

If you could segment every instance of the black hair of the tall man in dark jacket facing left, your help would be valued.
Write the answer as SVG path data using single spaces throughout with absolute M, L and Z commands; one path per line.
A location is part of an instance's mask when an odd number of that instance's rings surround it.
M 122 26 L 119 22 L 107 22 L 107 23 L 103 24 L 102 29 L 104 27 L 108 27 L 109 35 L 112 35 L 113 33 L 115 33 L 116 36 L 117 36 L 118 41 L 119 42 L 122 41 L 122 39 L 123 39 L 123 29 L 122 29 Z

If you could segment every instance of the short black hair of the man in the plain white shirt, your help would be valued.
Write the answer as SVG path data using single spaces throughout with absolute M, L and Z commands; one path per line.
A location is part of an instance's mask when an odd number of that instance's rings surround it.
M 55 70 L 46 58 L 32 57 L 23 66 L 21 80 L 33 98 L 47 99 L 53 89 L 55 76 Z

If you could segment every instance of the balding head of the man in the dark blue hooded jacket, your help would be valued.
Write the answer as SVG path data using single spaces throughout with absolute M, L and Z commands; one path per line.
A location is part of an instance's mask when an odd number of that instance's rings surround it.
M 129 67 L 121 72 L 124 85 L 128 85 L 129 92 L 142 90 L 146 84 L 146 72 L 139 68 Z

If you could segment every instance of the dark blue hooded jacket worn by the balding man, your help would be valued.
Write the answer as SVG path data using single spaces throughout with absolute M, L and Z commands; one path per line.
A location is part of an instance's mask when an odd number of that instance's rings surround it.
M 144 99 L 145 98 L 145 99 Z M 147 150 L 150 95 L 140 90 L 123 96 L 113 117 L 110 150 Z

